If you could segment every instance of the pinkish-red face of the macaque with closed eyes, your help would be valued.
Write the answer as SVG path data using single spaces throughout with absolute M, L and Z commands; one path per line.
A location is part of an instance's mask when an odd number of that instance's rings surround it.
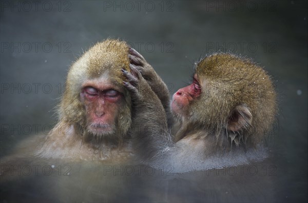
M 80 98 L 87 112 L 88 130 L 94 135 L 113 133 L 115 118 L 124 100 L 124 95 L 117 87 L 89 82 L 84 84 Z

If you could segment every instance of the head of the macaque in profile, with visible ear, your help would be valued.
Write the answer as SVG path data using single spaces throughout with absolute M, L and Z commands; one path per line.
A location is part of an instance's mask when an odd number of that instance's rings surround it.
M 236 145 L 259 143 L 276 114 L 271 78 L 248 59 L 209 55 L 196 63 L 192 84 L 172 98 L 172 112 L 183 125 L 222 132 Z

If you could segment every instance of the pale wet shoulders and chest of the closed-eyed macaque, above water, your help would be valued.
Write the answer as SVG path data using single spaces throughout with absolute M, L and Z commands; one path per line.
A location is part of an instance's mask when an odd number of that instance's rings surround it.
M 93 137 L 89 140 L 79 135 L 72 125 L 65 129 L 60 126 L 52 129 L 36 154 L 43 158 L 111 160 L 128 159 L 132 152 L 127 141 L 124 141 L 120 148 L 104 145 Z

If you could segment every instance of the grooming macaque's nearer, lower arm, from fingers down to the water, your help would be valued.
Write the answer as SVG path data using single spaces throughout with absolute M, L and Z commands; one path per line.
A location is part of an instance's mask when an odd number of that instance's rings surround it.
M 128 82 L 124 86 L 132 98 L 132 144 L 143 160 L 163 154 L 171 145 L 167 117 L 158 96 L 151 90 L 141 73 L 131 67 L 122 69 Z

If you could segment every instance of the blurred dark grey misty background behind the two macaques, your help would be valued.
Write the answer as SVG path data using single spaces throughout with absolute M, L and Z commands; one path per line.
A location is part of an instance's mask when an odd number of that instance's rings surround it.
M 1 1 L 0 16 L 1 157 L 55 124 L 67 70 L 96 42 L 126 40 L 170 93 L 190 81 L 200 56 L 231 51 L 273 76 L 277 198 L 306 201 L 306 1 Z

